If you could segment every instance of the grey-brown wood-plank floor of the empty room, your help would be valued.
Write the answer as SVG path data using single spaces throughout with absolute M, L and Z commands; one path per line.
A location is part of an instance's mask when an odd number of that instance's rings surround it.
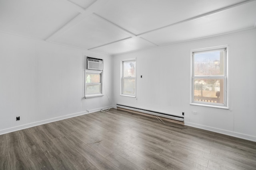
M 0 135 L 0 169 L 255 170 L 256 143 L 110 109 Z

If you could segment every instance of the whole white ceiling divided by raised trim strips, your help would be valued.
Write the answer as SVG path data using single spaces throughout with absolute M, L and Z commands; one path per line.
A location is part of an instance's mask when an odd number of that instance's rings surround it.
M 108 54 L 256 28 L 256 0 L 0 0 L 0 31 Z

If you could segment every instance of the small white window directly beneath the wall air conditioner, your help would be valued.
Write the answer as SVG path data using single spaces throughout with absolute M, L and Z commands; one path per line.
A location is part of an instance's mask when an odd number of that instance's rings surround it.
M 102 94 L 102 71 L 85 71 L 85 98 L 103 96 Z

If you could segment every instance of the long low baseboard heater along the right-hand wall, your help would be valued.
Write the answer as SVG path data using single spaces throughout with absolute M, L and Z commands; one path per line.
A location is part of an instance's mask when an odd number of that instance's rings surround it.
M 124 106 L 121 104 L 116 104 L 116 107 L 117 107 L 117 109 L 120 109 L 120 110 L 125 110 L 125 111 L 129 111 L 132 113 L 137 113 L 137 114 L 146 115 L 146 116 L 150 116 L 150 117 L 158 116 L 165 121 L 171 121 L 174 123 L 184 124 L 184 117 L 182 117 L 182 116 L 170 115 L 170 114 L 166 114 L 166 113 L 160 113 L 157 111 L 140 109 L 140 108 L 131 107 L 131 106 Z

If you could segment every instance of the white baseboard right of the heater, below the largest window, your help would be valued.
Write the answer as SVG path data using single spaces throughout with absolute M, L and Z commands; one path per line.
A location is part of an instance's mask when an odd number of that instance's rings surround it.
M 241 139 L 246 139 L 248 141 L 256 142 L 256 137 L 251 136 L 251 135 L 246 135 L 246 134 L 237 133 L 237 132 L 233 132 L 233 131 L 227 131 L 227 130 L 218 129 L 218 128 L 214 128 L 214 127 L 209 127 L 209 126 L 204 126 L 204 125 L 199 125 L 199 124 L 196 124 L 196 123 L 190 123 L 190 122 L 186 122 L 186 121 L 185 121 L 185 125 L 191 126 L 191 127 L 196 127 L 198 129 L 204 129 L 204 130 L 207 130 L 207 131 L 221 133 L 221 134 L 224 134 L 224 135 L 229 135 L 229 136 L 232 136 L 232 137 L 238 137 L 238 138 L 241 138 Z

